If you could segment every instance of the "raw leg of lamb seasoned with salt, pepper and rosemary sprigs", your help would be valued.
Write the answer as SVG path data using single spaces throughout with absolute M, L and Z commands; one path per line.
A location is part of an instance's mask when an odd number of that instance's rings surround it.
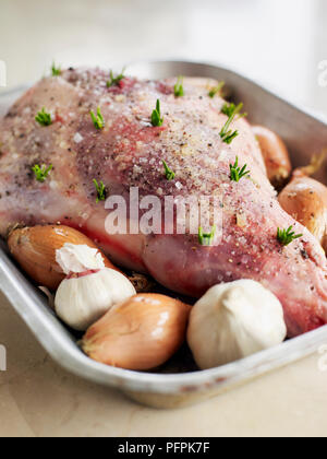
M 150 273 L 172 291 L 199 296 L 220 282 L 253 279 L 281 301 L 289 336 L 327 322 L 327 266 L 316 239 L 280 208 L 249 122 L 232 123 L 239 136 L 225 143 L 223 101 L 208 96 L 217 82 L 184 79 L 184 96 L 175 97 L 175 79 L 137 81 L 124 78 L 107 86 L 108 72 L 70 69 L 45 78 L 0 122 L 0 233 L 15 224 L 66 224 L 80 228 L 119 264 Z M 150 116 L 157 99 L 164 123 Z M 51 126 L 36 114 L 45 107 Z M 96 129 L 89 111 L 100 113 Z M 239 157 L 251 178 L 230 179 Z M 175 176 L 168 180 L 162 161 Z M 53 165 L 44 183 L 34 165 Z M 108 210 L 96 202 L 94 179 L 108 196 L 129 203 L 131 187 L 140 197 L 219 196 L 222 237 L 205 247 L 196 235 L 125 234 L 106 231 Z M 128 215 L 131 216 L 131 215 Z M 277 228 L 303 237 L 283 247 Z

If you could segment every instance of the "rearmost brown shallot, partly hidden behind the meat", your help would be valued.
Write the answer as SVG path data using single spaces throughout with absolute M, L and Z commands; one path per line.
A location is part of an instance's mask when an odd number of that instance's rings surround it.
M 268 178 L 274 187 L 279 190 L 290 178 L 292 165 L 284 142 L 270 129 L 254 126 L 253 132 L 259 143 L 266 164 Z

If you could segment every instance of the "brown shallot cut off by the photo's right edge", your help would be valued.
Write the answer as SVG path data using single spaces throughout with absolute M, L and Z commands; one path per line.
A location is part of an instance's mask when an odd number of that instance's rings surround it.
M 299 170 L 278 200 L 282 209 L 306 226 L 327 252 L 327 187 Z

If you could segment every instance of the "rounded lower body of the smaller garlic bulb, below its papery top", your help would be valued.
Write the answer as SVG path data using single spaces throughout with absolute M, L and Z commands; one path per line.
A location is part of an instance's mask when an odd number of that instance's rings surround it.
M 112 306 L 135 295 L 132 283 L 120 272 L 105 268 L 71 274 L 57 291 L 57 315 L 71 328 L 85 331 Z

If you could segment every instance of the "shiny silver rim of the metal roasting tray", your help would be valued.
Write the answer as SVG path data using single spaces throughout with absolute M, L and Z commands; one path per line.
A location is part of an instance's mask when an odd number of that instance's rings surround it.
M 186 66 L 206 66 L 208 69 L 223 70 L 231 72 L 243 80 L 255 84 L 261 90 L 269 95 L 280 99 L 283 104 L 304 115 L 322 122 L 327 127 L 327 119 L 319 114 L 312 113 L 310 109 L 301 107 L 293 102 L 290 102 L 258 82 L 243 76 L 239 72 L 230 68 L 220 67 L 214 62 L 199 62 L 192 60 L 144 60 L 131 62 L 135 64 L 186 64 Z M 199 75 L 201 76 L 201 75 Z M 0 92 L 0 101 L 2 97 L 22 91 L 28 85 L 20 85 L 16 89 Z M 289 363 L 301 360 L 317 351 L 320 344 L 327 342 L 327 326 L 322 327 L 315 331 L 305 333 L 301 337 L 289 340 L 276 348 L 259 352 L 244 360 L 233 362 L 231 364 L 213 368 L 208 370 L 199 370 L 181 374 L 159 374 L 159 373 L 141 373 L 131 372 L 121 368 L 114 368 L 99 364 L 92 361 L 84 355 L 77 345 L 70 340 L 66 332 L 64 340 L 64 332 L 56 329 L 55 321 L 60 325 L 60 321 L 55 318 L 53 314 L 48 308 L 43 309 L 45 299 L 37 293 L 36 289 L 27 281 L 25 275 L 13 264 L 4 250 L 0 247 L 0 289 L 9 303 L 14 307 L 16 313 L 21 316 L 27 325 L 32 333 L 49 355 L 60 366 L 75 375 L 89 379 L 92 381 L 119 388 L 124 391 L 137 391 L 157 395 L 185 395 L 203 392 L 218 387 L 232 386 L 238 381 L 244 382 L 252 377 L 262 375 L 270 369 L 281 367 Z M 25 283 L 25 290 L 22 287 Z M 28 289 L 29 285 L 29 289 Z M 28 294 L 29 293 L 29 294 Z M 16 303 L 15 303 L 16 302 Z M 40 308 L 41 307 L 41 308 Z M 31 314 L 34 313 L 33 314 Z M 61 326 L 61 328 L 63 328 Z M 53 332 L 55 330 L 55 332 Z M 48 333 L 46 333 L 48 331 Z M 64 343 L 70 345 L 65 348 Z M 301 350 L 300 350 L 301 348 Z M 88 369 L 86 372 L 86 368 Z

